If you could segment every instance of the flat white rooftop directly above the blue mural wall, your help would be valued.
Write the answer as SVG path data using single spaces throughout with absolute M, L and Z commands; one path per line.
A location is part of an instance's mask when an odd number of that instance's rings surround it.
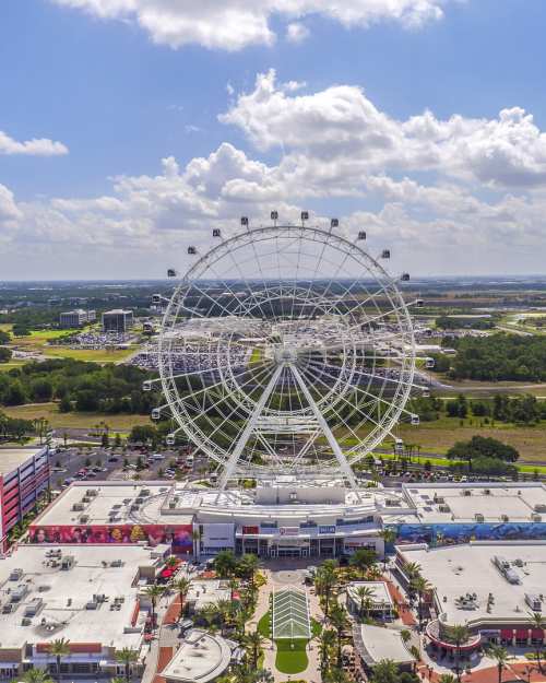
M 532 522 L 541 521 L 533 517 L 541 514 L 546 521 L 546 487 L 541 483 L 404 484 L 403 491 L 416 510 L 413 523 Z

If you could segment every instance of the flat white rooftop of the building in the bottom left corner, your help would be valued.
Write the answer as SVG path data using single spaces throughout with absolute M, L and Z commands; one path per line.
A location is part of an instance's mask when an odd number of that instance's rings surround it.
M 61 550 L 59 557 L 48 555 L 58 547 Z M 126 634 L 123 629 L 131 625 L 135 611 L 139 567 L 158 562 L 150 549 L 136 545 L 58 547 L 22 544 L 10 557 L 0 560 L 0 650 L 62 637 L 74 644 L 138 648 L 142 627 L 139 633 Z M 62 569 L 60 558 L 67 555 L 74 558 L 74 564 Z M 116 563 L 120 566 L 111 566 L 115 561 L 121 561 Z M 15 601 L 19 592 L 21 599 Z M 106 596 L 107 601 L 96 609 L 86 609 L 96 594 Z M 31 623 L 23 626 L 25 611 L 36 599 L 41 603 L 36 614 L 28 616 Z

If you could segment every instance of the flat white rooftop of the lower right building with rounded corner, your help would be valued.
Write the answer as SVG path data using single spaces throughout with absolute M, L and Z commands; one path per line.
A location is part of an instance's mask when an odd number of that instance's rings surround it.
M 420 565 L 423 576 L 436 587 L 438 609 L 448 624 L 529 621 L 533 610 L 525 596 L 545 593 L 546 541 L 479 541 L 434 549 L 405 545 L 399 552 L 404 561 Z M 496 556 L 507 561 L 518 582 L 508 580 L 495 565 Z M 546 612 L 546 603 L 541 603 L 534 611 Z

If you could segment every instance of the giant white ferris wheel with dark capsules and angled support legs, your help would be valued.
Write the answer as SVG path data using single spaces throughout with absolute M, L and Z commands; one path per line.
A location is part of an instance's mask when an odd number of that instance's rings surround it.
M 387 439 L 414 388 L 411 304 L 365 249 L 366 233 L 277 224 L 241 229 L 200 254 L 164 307 L 159 376 L 173 432 L 218 464 L 219 486 L 234 478 L 341 475 Z M 177 271 L 169 269 L 170 278 Z M 423 388 L 423 387 L 420 387 Z

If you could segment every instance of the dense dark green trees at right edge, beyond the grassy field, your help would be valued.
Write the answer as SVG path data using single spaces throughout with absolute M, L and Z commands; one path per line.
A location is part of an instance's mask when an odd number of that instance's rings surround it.
M 452 379 L 546 381 L 546 337 L 499 333 L 447 343 L 458 352 L 449 361 Z

